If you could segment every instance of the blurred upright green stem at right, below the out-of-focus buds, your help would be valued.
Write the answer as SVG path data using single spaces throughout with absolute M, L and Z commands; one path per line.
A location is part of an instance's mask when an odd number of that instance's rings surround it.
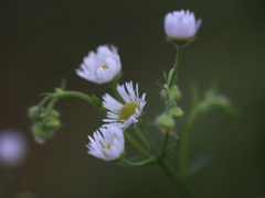
M 198 113 L 198 106 L 193 107 L 190 116 L 188 118 L 187 123 L 183 125 L 183 136 L 181 140 L 181 148 L 180 148 L 180 178 L 183 183 L 188 182 L 189 174 L 189 143 L 190 143 L 190 133 L 192 124 L 195 120 Z

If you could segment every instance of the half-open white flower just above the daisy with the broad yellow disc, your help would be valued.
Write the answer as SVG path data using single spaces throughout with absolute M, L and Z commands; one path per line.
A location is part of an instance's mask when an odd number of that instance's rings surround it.
M 117 47 L 100 45 L 97 52 L 89 52 L 76 74 L 95 84 L 106 84 L 120 74 L 121 64 Z

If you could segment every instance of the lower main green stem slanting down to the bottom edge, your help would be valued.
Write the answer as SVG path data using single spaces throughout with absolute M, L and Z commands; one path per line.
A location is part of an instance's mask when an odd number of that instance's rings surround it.
M 179 190 L 182 197 L 195 198 L 195 195 L 191 191 L 188 185 L 181 182 L 181 179 L 177 175 L 177 172 L 167 160 L 160 160 L 159 165 L 172 180 L 172 183 L 174 184 L 176 188 Z

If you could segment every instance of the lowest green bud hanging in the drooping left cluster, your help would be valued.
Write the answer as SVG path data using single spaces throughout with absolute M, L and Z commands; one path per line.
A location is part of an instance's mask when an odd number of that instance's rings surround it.
M 44 142 L 45 140 L 52 138 L 54 134 L 54 130 L 46 128 L 45 125 L 43 125 L 42 122 L 38 122 L 33 125 L 32 133 L 35 136 L 35 140 L 41 143 L 41 141 Z

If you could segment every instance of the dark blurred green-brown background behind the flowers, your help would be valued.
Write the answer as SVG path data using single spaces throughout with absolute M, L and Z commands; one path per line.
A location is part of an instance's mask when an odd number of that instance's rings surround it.
M 191 180 L 203 198 L 261 198 L 265 195 L 265 12 L 252 0 L 64 0 L 0 2 L 0 130 L 13 128 L 28 138 L 30 153 L 17 168 L 1 167 L 0 197 L 31 193 L 35 198 L 178 197 L 157 166 L 120 168 L 86 152 L 86 135 L 103 122 L 88 103 L 61 100 L 63 128 L 52 141 L 35 144 L 26 110 L 53 91 L 61 79 L 68 90 L 110 91 L 75 75 L 88 51 L 118 46 L 123 81 L 147 92 L 146 121 L 162 111 L 157 80 L 169 72 L 176 51 L 166 42 L 163 16 L 190 9 L 203 20 L 198 40 L 184 48 L 178 85 L 188 113 L 191 81 L 201 90 L 213 80 L 242 116 L 200 117 L 193 128 L 191 161 L 214 151 L 213 162 Z M 131 154 L 131 153 L 129 153 Z M 171 157 L 178 163 L 177 154 Z

